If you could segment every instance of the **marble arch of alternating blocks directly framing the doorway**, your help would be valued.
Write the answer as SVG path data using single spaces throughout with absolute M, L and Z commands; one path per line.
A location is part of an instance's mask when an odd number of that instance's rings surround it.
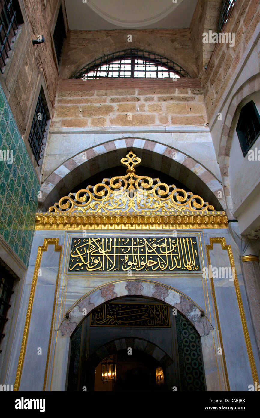
M 144 296 L 167 303 L 186 317 L 200 336 L 210 334 L 213 329 L 206 316 L 201 315 L 202 310 L 199 306 L 174 288 L 146 280 L 131 279 L 109 283 L 86 293 L 69 309 L 69 317 L 63 318 L 59 327 L 61 335 L 71 336 L 83 322 L 85 314 L 90 314 L 104 302 L 126 296 Z

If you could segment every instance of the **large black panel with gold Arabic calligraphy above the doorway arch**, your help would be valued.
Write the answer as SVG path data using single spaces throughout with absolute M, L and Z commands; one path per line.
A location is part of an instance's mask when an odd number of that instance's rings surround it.
M 197 271 L 195 237 L 73 238 L 69 271 Z

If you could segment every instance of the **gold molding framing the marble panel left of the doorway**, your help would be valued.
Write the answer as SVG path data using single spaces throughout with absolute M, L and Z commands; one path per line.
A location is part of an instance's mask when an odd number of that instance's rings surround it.
M 29 332 L 29 326 L 30 326 L 30 319 L 32 315 L 33 298 L 34 298 L 34 293 L 35 293 L 35 288 L 36 288 L 36 283 L 37 283 L 37 278 L 38 278 L 38 269 L 40 268 L 40 262 L 41 262 L 41 258 L 43 255 L 43 251 L 48 250 L 48 245 L 55 245 L 55 251 L 61 252 L 62 245 L 58 245 L 58 242 L 59 242 L 59 238 L 44 238 L 43 245 L 40 245 L 38 247 L 38 252 L 37 252 L 36 261 L 35 261 L 35 268 L 33 272 L 33 280 L 32 280 L 32 285 L 31 285 L 30 297 L 28 301 L 28 308 L 27 308 L 27 313 L 26 313 L 26 318 L 25 318 L 25 326 L 23 330 L 23 339 L 22 339 L 22 344 L 21 344 L 21 349 L 20 349 L 20 355 L 19 355 L 18 366 L 17 366 L 16 376 L 15 376 L 15 384 L 14 384 L 13 390 L 18 391 L 20 387 L 20 381 L 21 381 L 21 376 L 22 376 L 22 371 L 23 371 L 23 362 L 25 358 L 26 344 L 27 344 L 28 332 Z M 61 262 L 61 255 L 60 255 L 60 262 Z M 59 267 L 60 267 L 60 264 L 59 264 Z M 59 274 L 59 270 L 58 270 L 58 274 Z M 56 281 L 56 287 L 57 287 L 57 281 Z M 55 298 L 56 298 L 56 293 L 55 293 Z M 53 324 L 53 318 L 52 318 L 52 324 Z M 50 332 L 51 331 L 52 331 L 52 326 L 51 326 Z M 49 342 L 49 346 L 50 346 L 50 342 Z M 47 361 L 48 361 L 49 351 L 50 350 L 48 347 Z

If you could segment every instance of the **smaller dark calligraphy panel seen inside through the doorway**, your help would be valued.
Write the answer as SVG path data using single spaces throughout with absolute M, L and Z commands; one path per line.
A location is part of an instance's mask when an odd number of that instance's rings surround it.
M 167 305 L 159 303 L 104 303 L 91 314 L 91 326 L 169 327 Z

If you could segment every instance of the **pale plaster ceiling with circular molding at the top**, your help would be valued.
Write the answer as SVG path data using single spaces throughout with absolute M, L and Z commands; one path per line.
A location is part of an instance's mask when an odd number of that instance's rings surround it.
M 65 0 L 70 30 L 189 28 L 197 0 Z

